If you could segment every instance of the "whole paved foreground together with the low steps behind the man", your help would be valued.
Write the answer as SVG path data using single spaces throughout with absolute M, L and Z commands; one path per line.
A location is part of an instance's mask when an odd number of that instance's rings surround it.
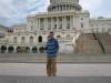
M 0 83 L 111 83 L 110 54 L 59 54 L 57 77 L 46 54 L 0 54 Z

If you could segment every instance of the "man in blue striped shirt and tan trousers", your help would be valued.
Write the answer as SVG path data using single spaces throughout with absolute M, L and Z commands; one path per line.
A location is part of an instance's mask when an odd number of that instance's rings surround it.
M 59 51 L 58 40 L 53 38 L 54 33 L 50 32 L 47 42 L 47 73 L 48 76 L 56 76 L 57 74 L 57 53 Z

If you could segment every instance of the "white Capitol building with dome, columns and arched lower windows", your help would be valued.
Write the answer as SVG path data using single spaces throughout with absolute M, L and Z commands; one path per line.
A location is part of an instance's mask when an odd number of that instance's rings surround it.
M 90 12 L 82 10 L 79 0 L 50 0 L 48 12 L 28 15 L 26 24 L 14 24 L 12 29 L 0 39 L 6 53 L 17 53 L 20 46 L 29 53 L 43 52 L 50 31 L 59 40 L 60 52 L 73 52 L 81 33 L 111 34 L 111 19 L 90 19 Z

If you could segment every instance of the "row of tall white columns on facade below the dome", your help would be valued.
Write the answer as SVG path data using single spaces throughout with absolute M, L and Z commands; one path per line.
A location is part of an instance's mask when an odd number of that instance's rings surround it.
M 71 30 L 74 27 L 73 15 L 38 18 L 39 30 Z

